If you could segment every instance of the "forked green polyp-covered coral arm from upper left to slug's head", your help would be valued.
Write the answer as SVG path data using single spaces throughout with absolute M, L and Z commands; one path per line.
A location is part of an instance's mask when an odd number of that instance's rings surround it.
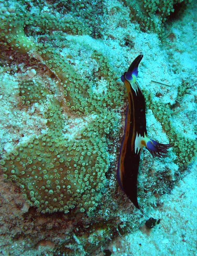
M 75 115 L 80 115 L 81 113 L 87 115 L 92 110 L 100 112 L 99 108 L 106 107 L 107 105 L 115 108 L 121 104 L 123 94 L 121 89 L 123 87 L 118 88 L 114 86 L 117 76 L 113 74 L 109 64 L 107 64 L 107 58 L 101 56 L 96 51 L 92 55 L 92 58 L 100 64 L 99 75 L 104 75 L 102 71 L 104 66 L 107 81 L 110 83 L 109 89 L 111 89 L 106 92 L 106 95 L 97 96 L 92 89 L 92 83 L 87 79 L 80 79 L 79 74 L 76 73 L 72 65 L 57 53 L 49 43 L 36 43 L 25 35 L 25 28 L 29 25 L 45 30 L 60 30 L 78 35 L 91 33 L 91 28 L 88 30 L 80 21 L 70 17 L 68 20 L 59 20 L 59 17 L 49 13 L 33 16 L 29 12 L 22 11 L 20 8 L 16 10 L 14 13 L 9 14 L 5 12 L 0 17 L 1 44 L 22 54 L 29 54 L 44 62 L 61 80 L 61 86 L 64 88 L 64 96 L 67 100 L 66 104 L 71 111 L 74 111 Z

